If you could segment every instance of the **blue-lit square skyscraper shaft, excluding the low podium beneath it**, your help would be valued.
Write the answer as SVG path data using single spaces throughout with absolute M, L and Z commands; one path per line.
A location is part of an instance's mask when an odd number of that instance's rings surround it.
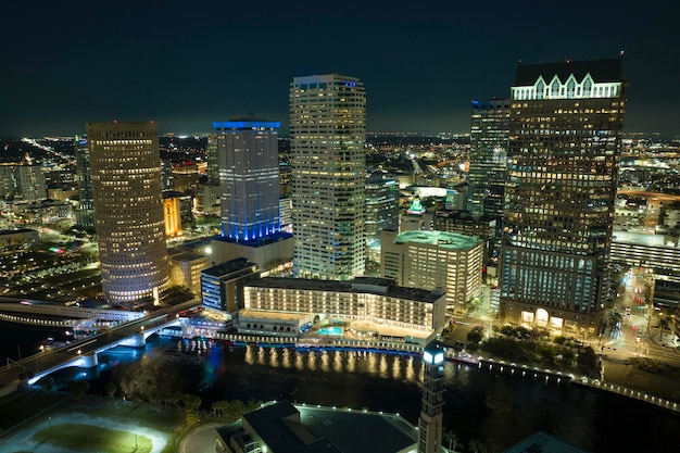
M 215 122 L 222 236 L 249 241 L 280 230 L 278 122 Z

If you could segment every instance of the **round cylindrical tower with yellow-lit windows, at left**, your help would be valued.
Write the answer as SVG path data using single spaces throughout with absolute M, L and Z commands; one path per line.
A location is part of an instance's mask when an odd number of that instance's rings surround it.
M 158 304 L 168 286 L 158 125 L 88 123 L 87 137 L 104 297 Z

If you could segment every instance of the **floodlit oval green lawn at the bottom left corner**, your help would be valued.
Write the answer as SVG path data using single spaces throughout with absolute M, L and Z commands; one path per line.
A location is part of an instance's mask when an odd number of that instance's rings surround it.
M 34 440 L 63 449 L 81 452 L 148 453 L 151 439 L 128 431 L 100 428 L 92 425 L 64 424 L 46 428 L 34 435 Z

